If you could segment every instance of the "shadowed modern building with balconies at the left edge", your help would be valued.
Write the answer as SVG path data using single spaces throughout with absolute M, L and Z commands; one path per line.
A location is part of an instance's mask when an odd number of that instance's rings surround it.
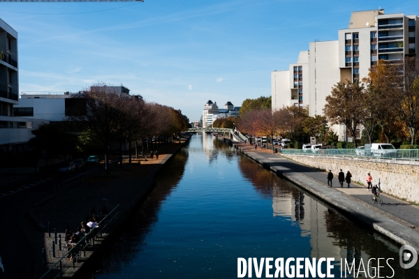
M 14 113 L 19 103 L 17 53 L 17 32 L 0 19 L 0 150 L 13 153 L 27 149 L 31 130 L 48 122 L 27 118 L 30 112 Z

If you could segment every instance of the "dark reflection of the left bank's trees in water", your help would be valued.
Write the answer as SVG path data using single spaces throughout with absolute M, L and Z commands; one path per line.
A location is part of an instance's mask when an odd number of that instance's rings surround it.
M 184 174 L 187 158 L 188 150 L 182 149 L 172 158 L 170 164 L 159 172 L 159 177 L 156 178 L 156 188 L 144 204 L 128 217 L 126 223 L 122 224 L 123 229 L 117 232 L 115 243 L 106 249 L 94 266 L 94 270 L 102 269 L 100 278 L 108 278 L 109 273 L 119 271 L 142 250 L 142 246 L 145 245 L 145 236 L 157 221 L 161 203 L 177 187 L 177 183 Z

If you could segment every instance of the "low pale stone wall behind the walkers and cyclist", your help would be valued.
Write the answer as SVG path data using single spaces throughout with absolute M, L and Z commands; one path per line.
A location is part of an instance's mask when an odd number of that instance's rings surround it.
M 419 163 L 397 160 L 365 159 L 357 157 L 309 156 L 282 154 L 297 163 L 317 169 L 332 170 L 337 180 L 339 170 L 351 172 L 352 181 L 367 185 L 365 176 L 372 176 L 372 183 L 381 181 L 381 190 L 399 199 L 419 203 Z M 326 174 L 325 174 L 326 181 Z

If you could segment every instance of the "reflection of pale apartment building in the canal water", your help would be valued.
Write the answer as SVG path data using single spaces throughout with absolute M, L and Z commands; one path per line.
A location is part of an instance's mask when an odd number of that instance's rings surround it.
M 301 236 L 310 237 L 310 257 L 335 257 L 336 261 L 346 258 L 352 262 L 355 258 L 357 264 L 362 257 L 363 262 L 368 262 L 368 255 L 365 252 L 355 250 L 352 247 L 341 248 L 337 246 L 335 236 L 328 232 L 328 224 L 325 214 L 332 213 L 333 218 L 339 218 L 327 207 L 316 202 L 316 200 L 305 197 L 300 191 L 290 193 L 289 189 L 280 186 L 272 188 L 272 209 L 274 216 L 286 216 L 297 223 L 301 229 Z M 330 220 L 330 219 L 329 219 Z M 349 221 L 348 221 L 349 222 Z

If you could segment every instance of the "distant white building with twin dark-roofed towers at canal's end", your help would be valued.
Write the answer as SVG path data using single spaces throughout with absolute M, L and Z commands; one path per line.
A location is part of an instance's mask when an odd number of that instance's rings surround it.
M 240 107 L 235 107 L 230 101 L 224 105 L 223 109 L 219 109 L 216 102 L 212 103 L 211 100 L 208 100 L 203 110 L 203 128 L 212 127 L 212 123 L 214 123 L 216 119 L 226 118 L 228 116 L 239 116 L 239 110 Z

